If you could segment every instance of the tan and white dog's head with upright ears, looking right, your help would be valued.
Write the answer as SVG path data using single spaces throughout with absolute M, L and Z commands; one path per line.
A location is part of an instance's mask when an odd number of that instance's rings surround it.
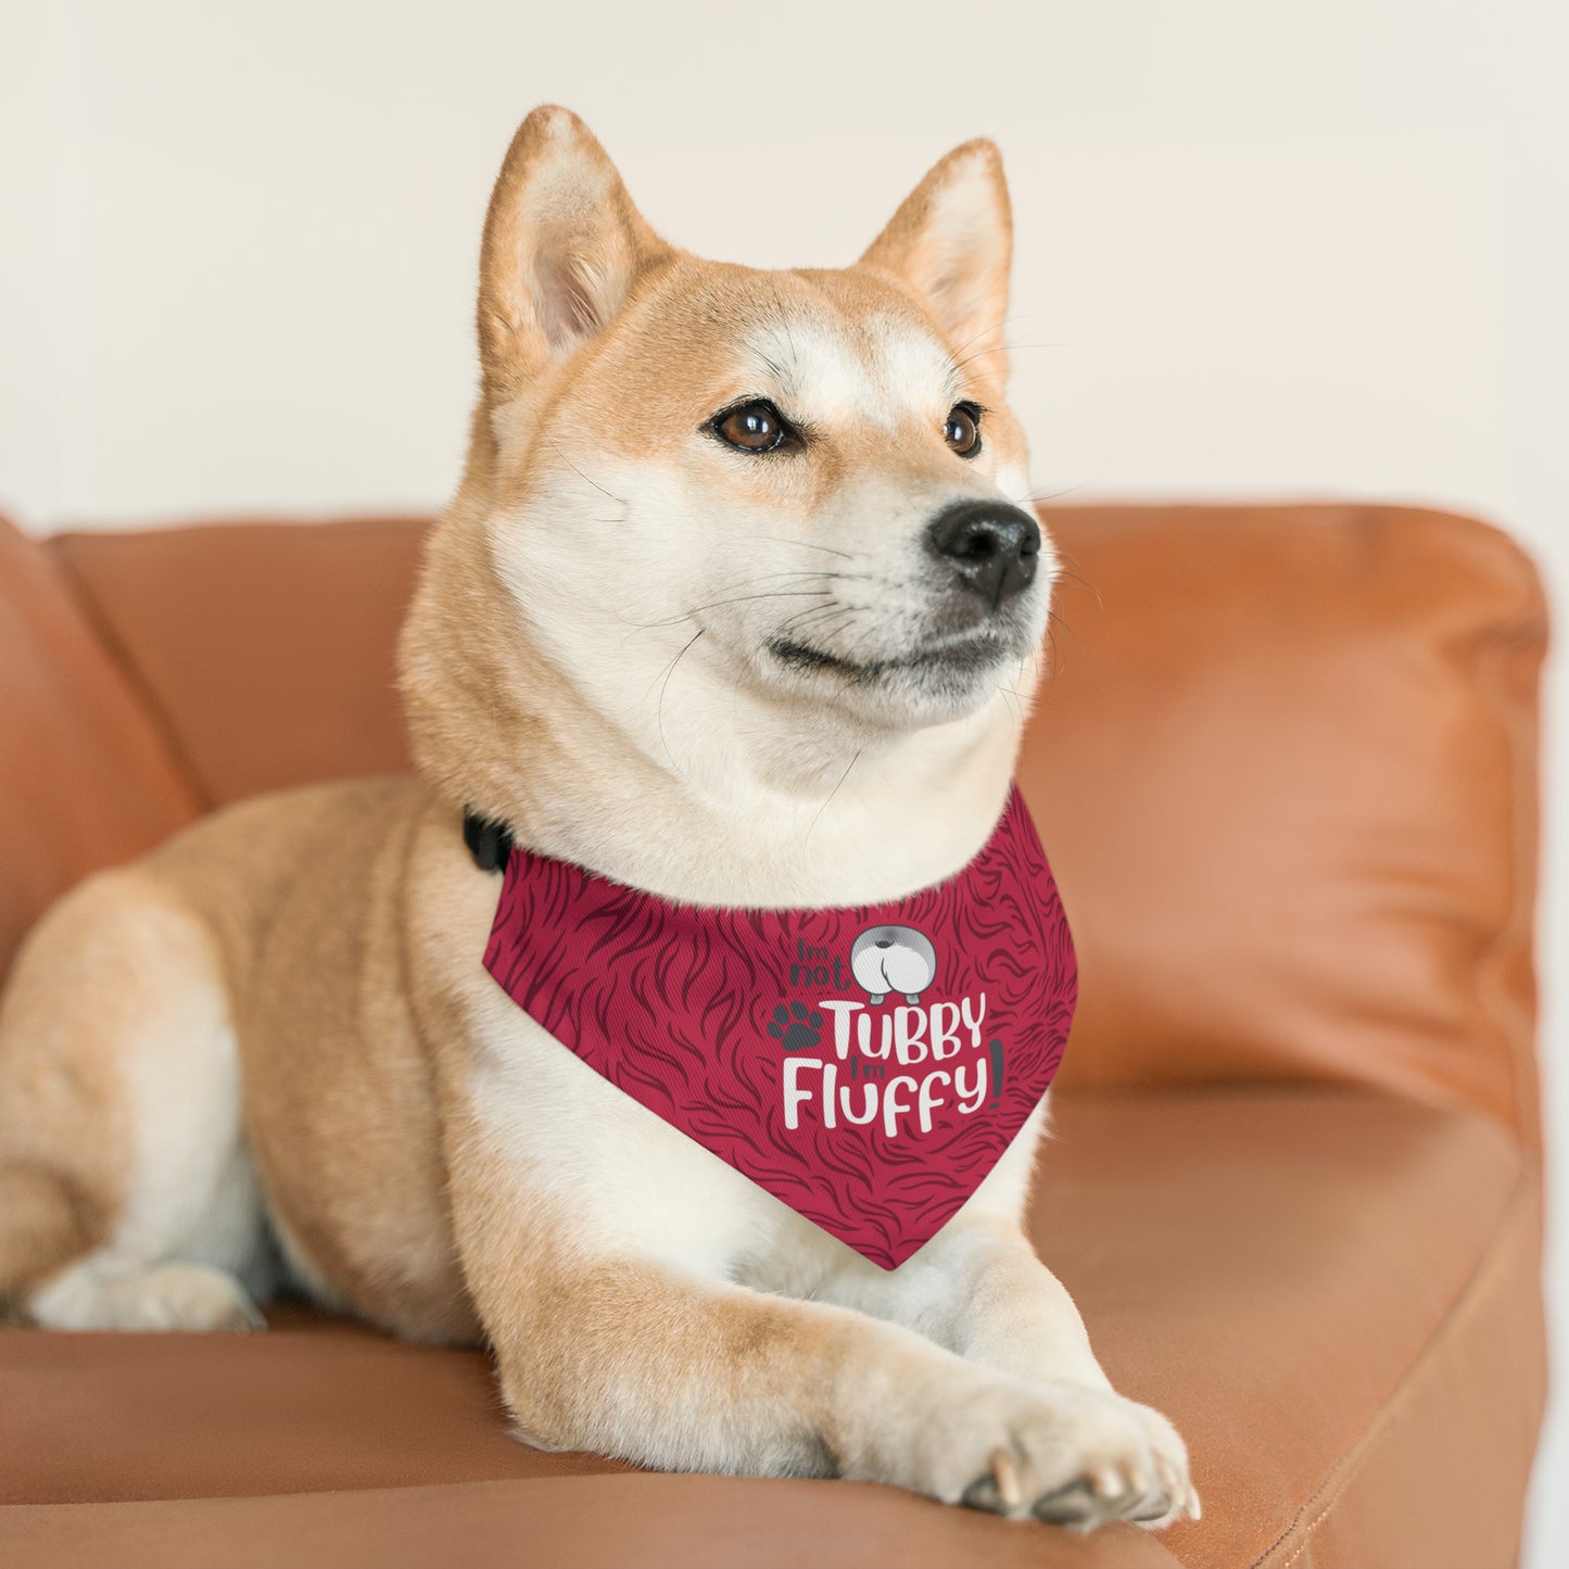
M 532 113 L 485 228 L 469 466 L 405 635 L 416 742 L 502 675 L 687 761 L 725 726 L 843 755 L 1017 725 L 1054 557 L 1004 399 L 1009 257 L 988 141 L 854 267 L 758 271 L 662 242 L 576 116 Z

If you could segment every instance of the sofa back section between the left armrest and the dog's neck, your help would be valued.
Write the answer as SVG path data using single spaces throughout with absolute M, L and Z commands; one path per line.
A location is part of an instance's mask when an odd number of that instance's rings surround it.
M 392 650 L 427 519 L 213 522 L 50 544 L 207 806 L 410 767 Z

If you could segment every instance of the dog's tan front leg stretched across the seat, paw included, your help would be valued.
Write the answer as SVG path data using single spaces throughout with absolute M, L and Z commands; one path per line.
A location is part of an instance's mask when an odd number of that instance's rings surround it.
M 613 1218 L 617 1252 L 590 1219 L 601 1211 L 466 1153 L 464 1274 L 529 1442 L 662 1469 L 843 1475 L 1015 1516 L 1153 1513 L 1155 1429 L 1108 1390 L 1029 1384 L 846 1307 L 635 1257 L 637 1235 L 659 1230 L 639 1192 Z

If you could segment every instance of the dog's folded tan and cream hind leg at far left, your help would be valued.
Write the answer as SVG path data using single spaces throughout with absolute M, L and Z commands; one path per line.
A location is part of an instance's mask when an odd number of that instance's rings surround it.
M 215 943 L 140 869 L 39 924 L 0 1012 L 0 1301 L 60 1329 L 253 1329 L 265 1277 Z

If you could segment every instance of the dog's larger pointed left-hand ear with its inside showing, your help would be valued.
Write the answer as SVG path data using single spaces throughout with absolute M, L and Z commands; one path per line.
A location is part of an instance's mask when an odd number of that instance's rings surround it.
M 510 397 L 604 331 L 670 248 L 571 110 L 544 105 L 507 149 L 480 251 L 480 367 Z

